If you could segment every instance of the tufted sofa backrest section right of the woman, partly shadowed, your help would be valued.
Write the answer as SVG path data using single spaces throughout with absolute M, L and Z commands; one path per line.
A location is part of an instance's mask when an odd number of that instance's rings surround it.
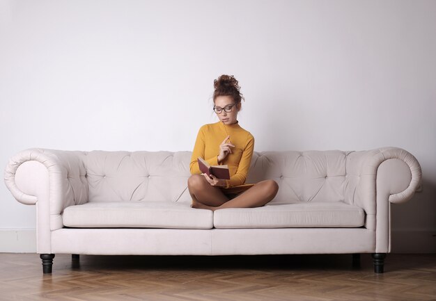
M 346 158 L 350 152 L 254 152 L 247 183 L 274 179 L 272 203 L 345 202 Z

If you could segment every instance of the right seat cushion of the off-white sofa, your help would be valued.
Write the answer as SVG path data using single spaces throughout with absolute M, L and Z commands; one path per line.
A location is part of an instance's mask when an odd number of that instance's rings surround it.
M 214 213 L 215 228 L 361 227 L 364 222 L 363 209 L 343 202 L 267 204 Z

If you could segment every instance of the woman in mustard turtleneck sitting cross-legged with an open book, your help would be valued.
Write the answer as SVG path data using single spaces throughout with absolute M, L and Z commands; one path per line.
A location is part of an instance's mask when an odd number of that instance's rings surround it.
M 188 189 L 192 207 L 215 211 L 224 208 L 258 207 L 270 202 L 279 190 L 274 180 L 260 181 L 243 186 L 254 150 L 254 137 L 240 127 L 237 120 L 241 109 L 240 86 L 232 76 L 221 75 L 214 80 L 214 111 L 219 122 L 205 124 L 198 131 L 189 168 L 192 176 Z M 244 99 L 245 100 L 245 99 Z M 228 165 L 230 180 L 203 174 L 197 158 L 204 158 L 210 165 Z M 235 188 L 249 189 L 231 194 Z

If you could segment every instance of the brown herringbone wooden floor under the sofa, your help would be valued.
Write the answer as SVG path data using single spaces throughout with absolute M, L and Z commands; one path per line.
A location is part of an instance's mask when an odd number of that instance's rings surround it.
M 436 254 L 232 257 L 0 254 L 0 300 L 436 300 Z

